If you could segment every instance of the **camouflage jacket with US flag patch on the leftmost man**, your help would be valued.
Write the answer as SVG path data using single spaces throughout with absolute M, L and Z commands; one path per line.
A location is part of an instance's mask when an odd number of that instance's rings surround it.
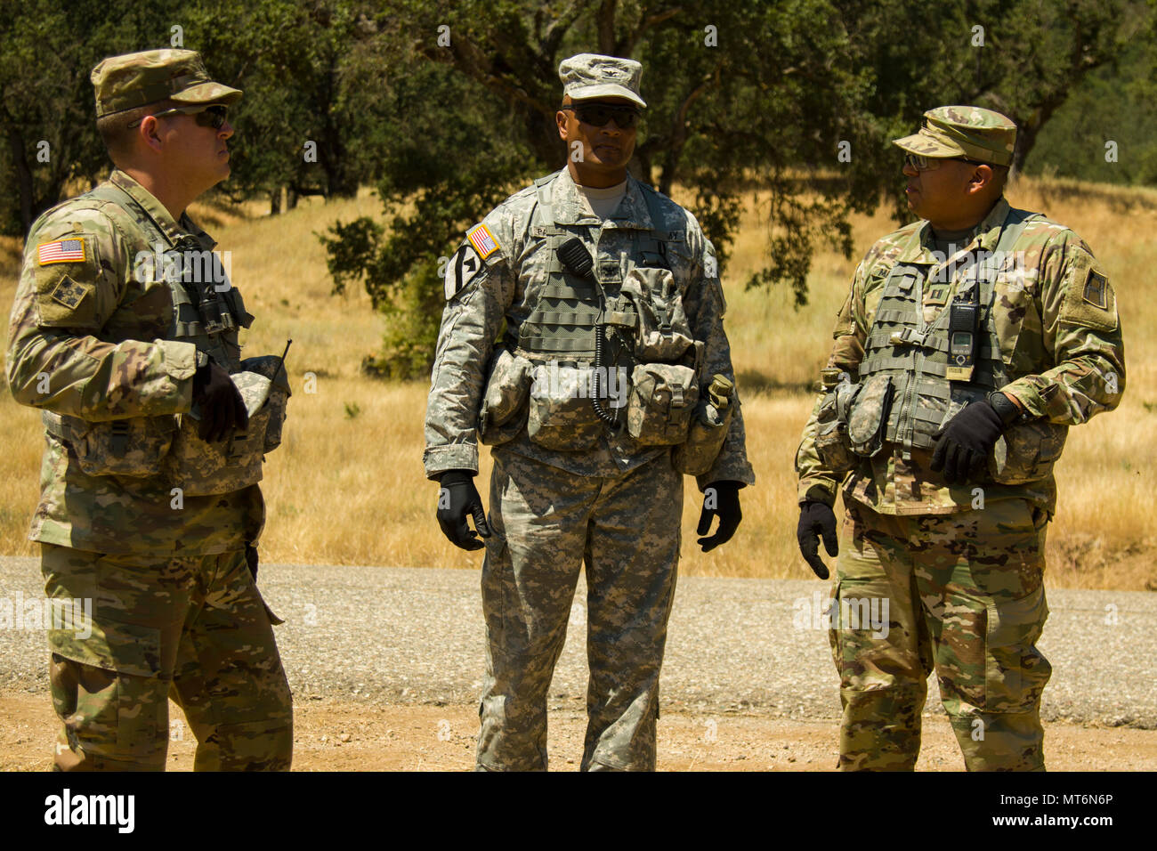
M 205 251 L 216 243 L 186 215 L 174 221 L 125 173 L 115 170 L 108 184 L 123 190 L 124 204 L 82 195 L 29 232 L 8 384 L 21 404 L 91 423 L 187 413 L 196 346 L 174 339 L 170 287 L 160 274 L 141 274 L 139 258 L 157 243 L 162 251 L 191 244 L 189 237 Z M 235 371 L 236 330 L 221 346 L 215 357 Z M 89 476 L 59 436 L 46 433 L 45 441 L 34 541 L 105 553 L 212 555 L 242 549 L 264 524 L 257 485 L 176 499 L 163 477 Z

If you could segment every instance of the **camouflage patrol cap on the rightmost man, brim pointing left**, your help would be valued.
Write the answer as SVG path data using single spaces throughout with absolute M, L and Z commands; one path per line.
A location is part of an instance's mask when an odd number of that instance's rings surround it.
M 923 156 L 966 156 L 993 166 L 1011 166 L 1016 125 L 990 109 L 937 107 L 924 112 L 919 133 L 892 144 Z

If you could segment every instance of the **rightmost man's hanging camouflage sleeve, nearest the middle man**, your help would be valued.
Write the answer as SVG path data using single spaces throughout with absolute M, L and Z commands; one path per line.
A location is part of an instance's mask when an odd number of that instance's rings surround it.
M 799 477 L 797 500 L 808 500 L 835 505 L 835 492 L 847 474 L 838 474 L 824 467 L 816 452 L 816 427 L 819 405 L 826 394 L 826 383 L 834 383 L 840 373 L 847 373 L 856 381 L 860 375 L 860 362 L 864 357 L 864 343 L 868 339 L 868 320 L 864 307 L 864 269 L 867 261 L 860 264 L 852 279 L 852 288 L 835 316 L 835 328 L 832 330 L 834 343 L 832 354 L 827 359 L 820 380 L 820 389 L 811 406 L 811 416 L 803 428 L 799 447 L 796 449 L 796 474 Z

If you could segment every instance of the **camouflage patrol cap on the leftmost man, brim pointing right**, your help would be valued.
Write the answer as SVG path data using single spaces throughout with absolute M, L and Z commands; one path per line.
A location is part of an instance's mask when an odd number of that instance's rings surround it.
M 214 82 L 196 50 L 146 50 L 102 59 L 93 68 L 96 117 L 174 100 L 233 103 L 241 89 Z

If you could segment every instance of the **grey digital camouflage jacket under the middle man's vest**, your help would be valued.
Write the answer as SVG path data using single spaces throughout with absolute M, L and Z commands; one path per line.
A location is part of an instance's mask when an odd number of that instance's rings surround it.
M 619 269 L 641 259 L 631 256 L 634 232 L 649 232 L 657 227 L 669 234 L 671 272 L 683 295 L 692 335 L 705 344 L 701 374 L 722 373 L 734 381 L 731 351 L 723 331 L 725 302 L 715 269 L 714 248 L 703 236 L 694 215 L 659 195 L 658 208 L 663 211 L 664 220 L 653 223 L 644 190 L 629 176 L 626 196 L 614 213 L 603 221 L 587 211 L 567 169 L 558 173 L 550 189 L 555 225 L 583 241 L 598 269 L 606 264 Z M 529 186 L 508 198 L 482 220 L 496 250 L 486 254 L 478 272 L 457 292 L 448 293 L 426 410 L 423 461 L 426 475 L 430 478 L 443 470 L 478 470 L 476 427 L 495 342 L 503 323 L 508 333 L 517 333 L 519 324 L 535 309 L 552 259 L 547 241 L 536 235 L 531 227 L 537 203 L 537 190 Z M 723 448 L 714 465 L 697 477 L 700 489 L 721 479 L 746 484 L 756 480 L 746 457 L 738 395 L 732 404 L 735 413 Z M 670 453 L 671 447 L 639 446 L 619 432 L 613 435 L 604 433 L 588 450 L 559 452 L 535 443 L 523 428 L 501 450 L 536 458 L 580 476 L 610 476 Z

